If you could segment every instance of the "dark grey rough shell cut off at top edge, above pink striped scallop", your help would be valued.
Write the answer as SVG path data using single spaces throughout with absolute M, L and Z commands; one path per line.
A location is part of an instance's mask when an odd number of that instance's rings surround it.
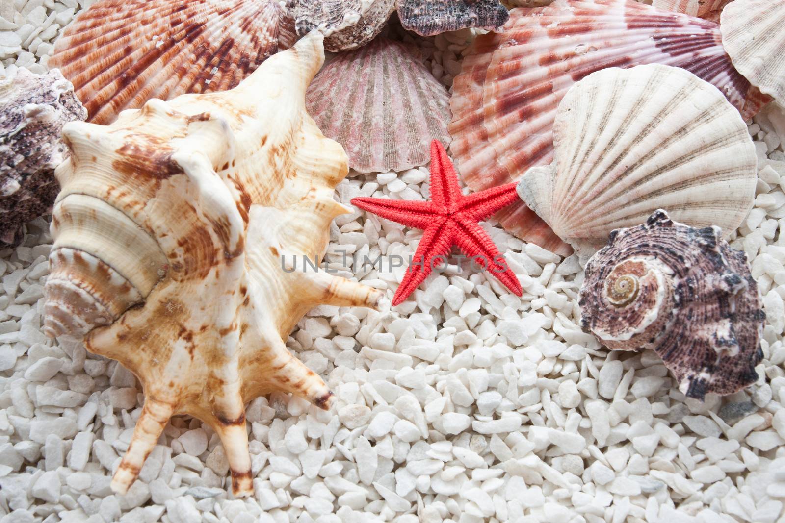
M 498 31 L 509 18 L 498 0 L 396 0 L 396 8 L 401 25 L 423 36 L 465 27 Z

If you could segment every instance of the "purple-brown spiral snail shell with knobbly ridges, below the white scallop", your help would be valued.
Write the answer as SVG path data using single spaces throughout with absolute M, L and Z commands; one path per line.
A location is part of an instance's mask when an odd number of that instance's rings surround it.
M 758 380 L 765 314 L 747 255 L 717 227 L 655 212 L 614 231 L 586 265 L 584 328 L 612 349 L 652 349 L 688 398 L 732 394 Z

